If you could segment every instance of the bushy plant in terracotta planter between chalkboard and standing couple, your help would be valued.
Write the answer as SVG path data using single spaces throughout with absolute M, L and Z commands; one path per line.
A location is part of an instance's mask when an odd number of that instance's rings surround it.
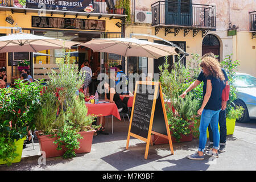
M 164 99 L 171 101 L 171 107 L 167 107 L 167 117 L 170 133 L 174 142 L 185 142 L 192 140 L 193 117 L 196 115 L 199 101 L 188 94 L 185 99 L 179 98 L 183 89 L 190 83 L 188 70 L 179 63 L 174 63 L 174 68 L 169 71 L 168 57 L 166 63 L 160 66 L 160 82 L 163 86 Z M 175 112 L 171 110 L 172 106 Z M 197 107 L 195 107 L 197 106 Z M 157 140 L 156 140 L 157 139 Z M 154 136 L 155 144 L 168 143 L 164 138 Z

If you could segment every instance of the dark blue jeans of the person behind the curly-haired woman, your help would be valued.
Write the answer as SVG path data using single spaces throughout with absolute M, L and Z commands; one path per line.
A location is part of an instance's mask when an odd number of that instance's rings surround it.
M 221 110 L 218 116 L 218 125 L 220 125 L 220 144 L 226 143 L 226 109 Z M 213 142 L 212 129 L 208 126 L 209 140 Z

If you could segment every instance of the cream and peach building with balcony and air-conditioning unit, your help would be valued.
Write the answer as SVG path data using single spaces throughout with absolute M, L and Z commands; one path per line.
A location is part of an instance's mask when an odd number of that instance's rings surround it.
M 213 52 L 220 61 L 233 53 L 233 59 L 241 63 L 238 71 L 256 76 L 255 9 L 255 0 L 132 0 L 133 22 L 126 25 L 125 35 L 150 34 L 175 43 L 189 53 L 184 64 L 193 53 Z M 150 37 L 136 38 L 164 43 Z M 170 56 L 170 64 L 176 59 Z M 131 68 L 136 60 L 137 68 Z M 163 63 L 163 58 L 148 58 L 147 64 L 146 58 L 128 58 L 127 73 L 158 73 L 158 66 Z

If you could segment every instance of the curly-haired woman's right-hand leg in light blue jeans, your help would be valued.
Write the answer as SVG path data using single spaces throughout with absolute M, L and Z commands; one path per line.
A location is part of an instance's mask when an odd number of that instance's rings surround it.
M 218 144 L 220 143 L 220 132 L 218 131 L 218 115 L 220 111 L 216 111 L 210 121 L 210 127 L 213 131 L 213 151 L 218 152 Z

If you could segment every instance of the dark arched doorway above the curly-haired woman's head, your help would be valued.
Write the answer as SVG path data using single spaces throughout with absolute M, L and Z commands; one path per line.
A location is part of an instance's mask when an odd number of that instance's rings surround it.
M 220 61 L 220 41 L 212 34 L 206 35 L 203 39 L 202 56 L 209 52 L 218 55 L 218 61 Z

